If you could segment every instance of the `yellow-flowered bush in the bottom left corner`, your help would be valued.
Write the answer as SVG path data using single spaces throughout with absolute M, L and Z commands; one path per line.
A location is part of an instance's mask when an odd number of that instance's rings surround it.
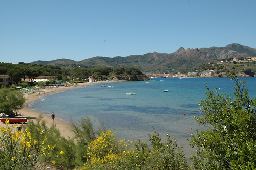
M 0 168 L 1 169 L 38 169 L 44 167 L 40 160 L 51 156 L 53 146 L 46 144 L 47 138 L 44 132 L 40 131 L 40 140 L 32 137 L 30 131 L 26 128 L 24 132 L 15 131 L 17 124 L 9 125 L 6 121 L 6 127 L 0 127 Z

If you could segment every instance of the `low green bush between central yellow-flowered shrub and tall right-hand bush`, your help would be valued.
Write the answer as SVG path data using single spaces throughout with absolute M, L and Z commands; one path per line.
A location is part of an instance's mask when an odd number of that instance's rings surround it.
M 114 162 L 114 169 L 188 169 L 187 162 L 176 140 L 174 142 L 167 134 L 167 140 L 162 141 L 161 136 L 154 130 L 150 136 L 150 148 L 147 143 L 138 140 L 133 151 L 122 154 Z

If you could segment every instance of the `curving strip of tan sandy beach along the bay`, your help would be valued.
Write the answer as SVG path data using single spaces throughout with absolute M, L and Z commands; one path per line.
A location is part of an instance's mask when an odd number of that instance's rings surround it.
M 22 109 L 18 110 L 18 112 L 20 112 L 22 114 L 22 117 L 26 117 L 28 119 L 28 121 L 26 122 L 26 124 L 29 124 L 30 121 L 34 121 L 36 122 L 39 115 L 42 115 L 42 120 L 46 123 L 46 125 L 48 127 L 51 127 L 51 125 L 53 124 L 52 122 L 52 118 L 50 116 L 51 113 L 48 114 L 42 114 L 40 112 L 34 111 L 34 110 L 30 110 L 29 108 L 26 107 L 26 105 L 28 105 L 29 103 L 38 100 L 39 96 L 41 95 L 48 95 L 50 93 L 57 93 L 59 91 L 63 91 L 63 90 L 69 90 L 69 89 L 74 89 L 74 88 L 83 88 L 84 86 L 87 85 L 93 85 L 93 84 L 98 84 L 98 83 L 110 83 L 110 82 L 115 82 L 115 81 L 98 81 L 98 82 L 93 82 L 93 83 L 79 83 L 79 86 L 71 86 L 71 87 L 55 87 L 55 88 L 45 88 L 45 89 L 41 89 L 44 90 L 45 92 L 40 92 L 40 95 L 38 92 L 34 93 L 34 94 L 24 94 L 24 98 L 26 99 L 24 106 Z M 19 117 L 19 116 L 17 116 Z M 24 125 L 26 125 L 24 124 Z M 74 137 L 74 133 L 71 131 L 71 125 L 63 122 L 62 120 L 58 119 L 58 116 L 55 115 L 55 119 L 54 119 L 54 124 L 56 125 L 57 129 L 59 129 L 60 134 L 65 137 L 65 138 L 72 138 Z M 14 125 L 14 124 L 11 124 Z M 4 127 L 5 123 L 0 122 L 0 126 Z

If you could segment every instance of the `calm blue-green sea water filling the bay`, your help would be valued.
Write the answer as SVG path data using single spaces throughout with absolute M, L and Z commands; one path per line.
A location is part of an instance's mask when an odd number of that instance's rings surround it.
M 249 96 L 256 96 L 256 78 L 245 79 Z M 89 117 L 94 128 L 103 120 L 106 129 L 116 132 L 119 139 L 148 141 L 153 128 L 164 140 L 166 134 L 176 139 L 185 153 L 191 154 L 188 140 L 199 125 L 194 116 L 202 116 L 199 103 L 207 89 L 219 90 L 233 97 L 235 82 L 230 78 L 152 78 L 152 81 L 105 82 L 42 95 L 28 107 L 56 118 L 79 123 Z M 103 87 L 102 87 L 103 86 Z M 105 86 L 105 87 L 104 87 Z M 108 87 L 113 86 L 113 87 Z M 168 90 L 168 92 L 164 92 Z M 136 93 L 127 95 L 127 92 Z M 188 139 L 188 140 L 187 140 Z

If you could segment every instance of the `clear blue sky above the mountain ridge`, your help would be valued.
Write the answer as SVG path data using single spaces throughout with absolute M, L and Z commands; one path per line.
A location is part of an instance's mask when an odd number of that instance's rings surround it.
M 256 1 L 0 1 L 0 62 L 256 48 Z

